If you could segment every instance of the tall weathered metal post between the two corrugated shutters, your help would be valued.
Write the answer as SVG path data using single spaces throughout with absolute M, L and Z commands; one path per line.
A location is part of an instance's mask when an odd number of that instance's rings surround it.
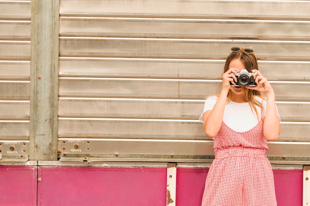
M 32 0 L 30 153 L 57 160 L 59 0 Z

